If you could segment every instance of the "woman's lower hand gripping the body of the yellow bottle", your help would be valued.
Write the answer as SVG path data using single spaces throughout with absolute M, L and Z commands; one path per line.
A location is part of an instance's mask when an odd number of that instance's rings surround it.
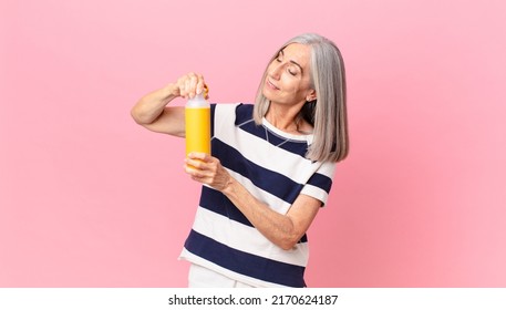
M 185 163 L 185 170 L 192 179 L 209 185 L 216 190 L 225 190 L 233 182 L 219 159 L 208 154 L 189 153 Z

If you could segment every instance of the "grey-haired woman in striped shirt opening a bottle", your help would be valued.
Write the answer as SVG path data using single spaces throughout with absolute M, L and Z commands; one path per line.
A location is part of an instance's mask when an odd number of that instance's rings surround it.
M 142 97 L 132 116 L 184 137 L 184 107 L 168 103 L 204 89 L 200 74 L 186 74 Z M 180 255 L 192 262 L 189 287 L 304 287 L 306 231 L 348 155 L 335 44 L 313 33 L 288 41 L 270 60 L 255 105 L 211 105 L 211 155 L 186 158 L 186 173 L 204 185 Z

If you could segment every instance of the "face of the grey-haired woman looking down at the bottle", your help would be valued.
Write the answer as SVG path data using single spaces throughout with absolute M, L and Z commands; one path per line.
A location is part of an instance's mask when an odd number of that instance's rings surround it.
M 314 100 L 309 76 L 310 48 L 291 43 L 267 66 L 262 93 L 271 103 L 293 105 Z

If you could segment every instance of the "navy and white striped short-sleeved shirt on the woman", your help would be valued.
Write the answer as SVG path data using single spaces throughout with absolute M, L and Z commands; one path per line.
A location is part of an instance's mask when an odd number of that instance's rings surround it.
M 251 104 L 211 105 L 211 154 L 258 200 L 286 214 L 300 194 L 327 202 L 335 163 L 304 157 L 312 135 L 287 134 Z M 261 235 L 220 192 L 203 186 L 195 223 L 180 255 L 193 264 L 255 287 L 304 287 L 304 235 L 283 250 Z

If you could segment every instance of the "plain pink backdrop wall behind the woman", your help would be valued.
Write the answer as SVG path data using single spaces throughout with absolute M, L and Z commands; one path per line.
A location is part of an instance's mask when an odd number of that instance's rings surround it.
M 313 31 L 345 59 L 352 148 L 309 286 L 506 287 L 505 3 L 1 0 L 0 286 L 186 286 L 199 185 L 130 108 L 188 71 L 251 102 Z

